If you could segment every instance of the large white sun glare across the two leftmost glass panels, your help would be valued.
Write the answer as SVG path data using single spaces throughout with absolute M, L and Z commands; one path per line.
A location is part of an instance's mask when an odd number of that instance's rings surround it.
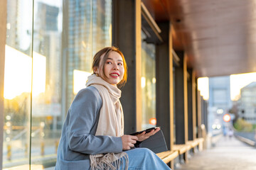
M 31 93 L 32 57 L 6 45 L 4 98 Z M 46 91 L 46 57 L 33 52 L 33 96 Z

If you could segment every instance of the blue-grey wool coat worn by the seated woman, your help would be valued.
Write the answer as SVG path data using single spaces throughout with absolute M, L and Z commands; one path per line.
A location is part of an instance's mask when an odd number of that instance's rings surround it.
M 93 86 L 75 96 L 63 125 L 55 170 L 90 169 L 90 154 L 122 152 L 121 137 L 95 136 L 101 107 L 102 98 Z

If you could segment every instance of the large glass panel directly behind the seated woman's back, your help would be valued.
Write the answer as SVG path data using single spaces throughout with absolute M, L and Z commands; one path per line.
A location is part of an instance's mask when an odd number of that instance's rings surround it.
M 46 168 L 55 165 L 65 115 L 92 74 L 93 55 L 111 45 L 112 4 L 34 1 L 31 162 Z

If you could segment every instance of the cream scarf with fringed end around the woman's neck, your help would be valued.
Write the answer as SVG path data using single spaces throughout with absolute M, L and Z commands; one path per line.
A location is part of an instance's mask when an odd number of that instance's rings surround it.
M 117 86 L 109 84 L 101 77 L 92 74 L 88 77 L 86 86 L 94 86 L 102 98 L 102 108 L 95 135 L 121 137 L 124 135 L 124 115 L 119 101 L 121 91 Z M 119 169 L 121 158 L 126 161 L 128 169 L 128 155 L 125 152 L 90 155 L 91 169 Z

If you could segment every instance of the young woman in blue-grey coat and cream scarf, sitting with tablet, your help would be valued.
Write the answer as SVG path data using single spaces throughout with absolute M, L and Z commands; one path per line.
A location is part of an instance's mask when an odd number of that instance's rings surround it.
M 105 47 L 93 58 L 92 69 L 87 88 L 78 92 L 68 110 L 55 170 L 169 169 L 149 149 L 132 149 L 159 129 L 124 135 L 121 91 L 117 88 L 127 80 L 122 52 Z

